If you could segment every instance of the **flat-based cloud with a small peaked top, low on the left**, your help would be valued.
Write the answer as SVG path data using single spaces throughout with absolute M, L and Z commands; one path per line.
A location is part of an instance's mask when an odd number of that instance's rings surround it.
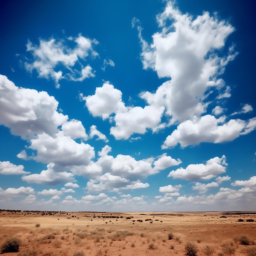
M 55 172 L 53 171 L 54 164 L 47 164 L 47 170 L 41 171 L 41 173 L 34 173 L 25 175 L 21 179 L 28 183 L 56 185 L 63 182 L 74 181 L 73 173 L 69 172 Z

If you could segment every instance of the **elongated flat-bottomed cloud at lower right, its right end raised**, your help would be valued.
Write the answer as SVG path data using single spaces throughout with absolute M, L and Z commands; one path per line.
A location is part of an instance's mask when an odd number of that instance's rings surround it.
M 214 157 L 206 164 L 189 164 L 185 169 L 180 167 L 176 171 L 171 171 L 168 177 L 182 180 L 210 180 L 217 175 L 226 172 L 226 157 Z

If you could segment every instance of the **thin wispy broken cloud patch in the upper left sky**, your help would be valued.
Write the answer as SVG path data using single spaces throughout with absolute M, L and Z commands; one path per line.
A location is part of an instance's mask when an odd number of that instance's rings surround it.
M 85 78 L 94 76 L 92 67 L 87 65 L 83 67 L 81 60 L 91 54 L 92 57 L 97 56 L 92 48 L 93 44 L 97 44 L 96 40 L 90 40 L 81 34 L 77 38 L 69 37 L 68 40 L 76 43 L 74 48 L 68 47 L 64 40 L 39 40 L 39 45 L 33 45 L 30 41 L 27 43 L 27 52 L 31 52 L 33 60 L 25 62 L 25 67 L 29 72 L 36 70 L 38 77 L 53 79 L 56 88 L 60 87 L 59 81 L 69 77 L 73 81 L 83 81 Z M 80 70 L 74 69 L 75 64 L 80 66 Z M 61 65 L 61 70 L 58 70 Z M 65 74 L 63 71 L 65 70 Z M 78 77 L 77 77 L 78 76 Z

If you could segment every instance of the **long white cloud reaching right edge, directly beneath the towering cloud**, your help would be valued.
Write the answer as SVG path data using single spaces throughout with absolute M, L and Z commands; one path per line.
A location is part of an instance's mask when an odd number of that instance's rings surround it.
M 240 135 L 247 134 L 256 127 L 256 119 L 243 121 L 231 119 L 225 123 L 225 117 L 205 115 L 199 119 L 187 120 L 177 126 L 171 135 L 168 135 L 162 148 L 170 148 L 180 143 L 182 148 L 197 145 L 201 142 L 222 143 L 232 141 Z

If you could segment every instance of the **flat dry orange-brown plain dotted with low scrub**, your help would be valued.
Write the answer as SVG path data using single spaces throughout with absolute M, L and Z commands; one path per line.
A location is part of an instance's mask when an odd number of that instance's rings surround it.
M 0 243 L 10 237 L 22 245 L 3 256 L 181 256 L 188 242 L 198 256 L 256 256 L 256 212 L 0 210 Z

